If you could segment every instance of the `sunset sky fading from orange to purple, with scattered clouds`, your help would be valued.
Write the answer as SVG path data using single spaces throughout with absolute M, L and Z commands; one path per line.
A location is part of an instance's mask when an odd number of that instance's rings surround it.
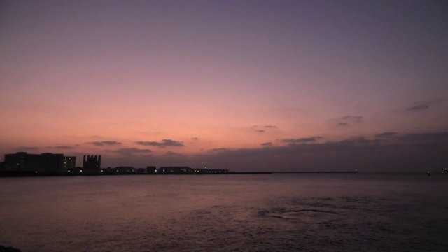
M 448 167 L 447 1 L 0 1 L 0 155 Z

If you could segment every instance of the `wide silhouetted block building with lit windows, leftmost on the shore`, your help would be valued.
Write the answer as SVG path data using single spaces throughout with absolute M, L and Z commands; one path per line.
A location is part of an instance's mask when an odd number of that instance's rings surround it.
M 61 174 L 74 171 L 75 166 L 76 157 L 64 157 L 64 154 L 18 152 L 5 155 L 3 169 L 17 172 Z

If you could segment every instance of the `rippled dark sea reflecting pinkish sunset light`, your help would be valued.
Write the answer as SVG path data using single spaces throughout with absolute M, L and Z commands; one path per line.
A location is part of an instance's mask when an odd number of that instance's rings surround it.
M 0 245 L 39 251 L 448 251 L 448 175 L 0 178 Z

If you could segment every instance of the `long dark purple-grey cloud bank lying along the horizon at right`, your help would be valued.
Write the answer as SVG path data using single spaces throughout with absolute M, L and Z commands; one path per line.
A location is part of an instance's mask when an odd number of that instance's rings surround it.
M 385 132 L 391 136 L 395 132 Z M 196 155 L 195 162 L 237 171 L 426 172 L 448 163 L 448 132 L 405 134 L 393 141 L 351 137 L 342 141 L 271 146 L 216 148 Z

